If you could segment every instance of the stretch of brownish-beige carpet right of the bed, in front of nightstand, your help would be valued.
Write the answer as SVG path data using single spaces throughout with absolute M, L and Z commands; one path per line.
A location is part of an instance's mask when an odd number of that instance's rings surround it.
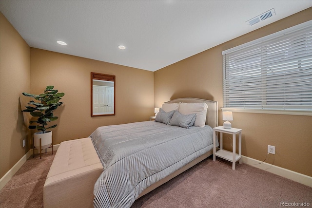
M 131 208 L 280 208 L 308 202 L 312 188 L 250 165 L 212 157 L 139 198 Z

